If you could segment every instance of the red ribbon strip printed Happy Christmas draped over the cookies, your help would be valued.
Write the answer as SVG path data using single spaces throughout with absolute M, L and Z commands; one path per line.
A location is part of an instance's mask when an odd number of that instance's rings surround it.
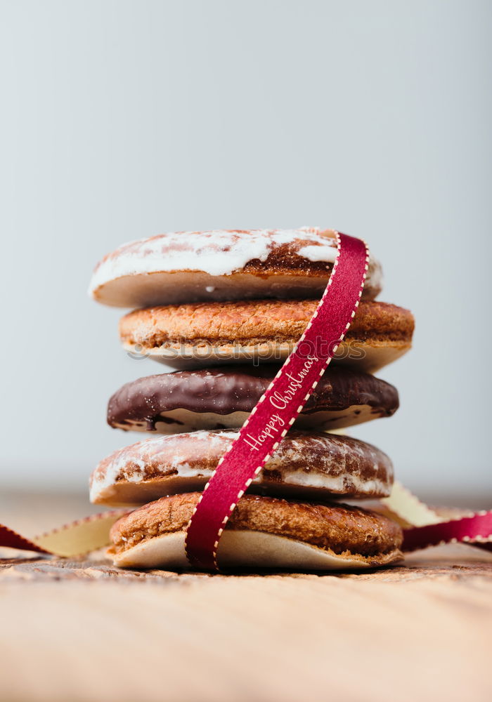
M 276 451 L 349 329 L 368 270 L 368 249 L 361 239 L 338 237 L 337 259 L 316 312 L 219 461 L 190 519 L 186 554 L 195 567 L 217 569 L 219 539 L 235 505 Z

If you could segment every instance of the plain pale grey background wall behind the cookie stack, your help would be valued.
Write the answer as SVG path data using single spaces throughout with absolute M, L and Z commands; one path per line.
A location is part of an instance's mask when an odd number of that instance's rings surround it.
M 91 269 L 165 230 L 365 237 L 415 347 L 391 420 L 352 432 L 424 496 L 492 495 L 487 1 L 4 1 L 4 486 L 85 488 L 119 348 Z M 485 505 L 484 505 L 485 506 Z

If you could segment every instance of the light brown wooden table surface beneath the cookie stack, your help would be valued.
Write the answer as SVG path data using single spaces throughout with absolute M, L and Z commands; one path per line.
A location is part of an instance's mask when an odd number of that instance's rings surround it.
M 10 525 L 53 524 L 35 503 Z M 0 616 L 2 702 L 492 698 L 492 555 L 467 545 L 322 576 L 24 555 L 0 561 Z

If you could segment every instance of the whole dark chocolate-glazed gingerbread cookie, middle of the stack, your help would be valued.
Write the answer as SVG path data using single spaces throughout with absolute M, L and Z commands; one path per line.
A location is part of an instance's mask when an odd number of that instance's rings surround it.
M 162 434 L 240 428 L 275 378 L 278 367 L 221 366 L 138 378 L 110 398 L 108 424 Z M 279 407 L 283 402 L 278 398 Z M 339 429 L 389 417 L 398 406 L 393 385 L 357 369 L 330 366 L 295 425 Z

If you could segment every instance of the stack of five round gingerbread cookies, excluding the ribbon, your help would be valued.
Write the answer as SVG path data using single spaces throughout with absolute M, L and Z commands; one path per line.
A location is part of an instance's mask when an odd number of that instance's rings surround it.
M 132 508 L 112 528 L 115 564 L 186 567 L 200 491 L 306 329 L 336 254 L 331 230 L 175 232 L 125 244 L 98 264 L 93 298 L 134 308 L 119 324 L 124 349 L 167 366 L 108 404 L 112 427 L 148 434 L 91 476 L 94 503 Z M 349 332 L 240 499 L 219 565 L 339 569 L 401 557 L 398 525 L 354 505 L 389 495 L 390 459 L 333 433 L 398 408 L 396 389 L 373 373 L 410 348 L 413 317 L 376 301 L 380 290 L 371 256 Z

